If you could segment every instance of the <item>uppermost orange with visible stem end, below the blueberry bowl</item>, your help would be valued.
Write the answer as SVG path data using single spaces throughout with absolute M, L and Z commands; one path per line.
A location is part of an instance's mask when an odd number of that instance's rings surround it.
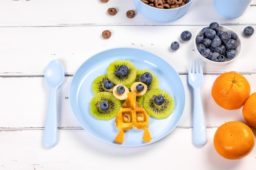
M 247 79 L 237 72 L 220 74 L 211 87 L 211 96 L 222 108 L 239 109 L 251 94 L 251 86 Z

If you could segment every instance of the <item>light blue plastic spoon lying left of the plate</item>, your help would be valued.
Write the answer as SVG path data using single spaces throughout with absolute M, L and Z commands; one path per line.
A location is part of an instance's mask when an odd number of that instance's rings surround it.
M 57 143 L 57 89 L 64 81 L 64 70 L 58 60 L 52 60 L 45 70 L 45 82 L 49 86 L 49 101 L 45 120 L 43 143 L 46 147 L 52 148 Z

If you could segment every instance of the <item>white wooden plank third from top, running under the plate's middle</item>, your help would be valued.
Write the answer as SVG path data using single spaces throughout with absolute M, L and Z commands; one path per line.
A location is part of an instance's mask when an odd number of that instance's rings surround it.
M 256 92 L 256 74 L 243 74 L 251 85 L 251 92 Z M 242 111 L 225 110 L 216 105 L 211 97 L 211 86 L 218 74 L 205 74 L 202 87 L 202 100 L 207 127 L 218 127 L 227 121 L 242 121 Z M 187 83 L 187 75 L 180 75 L 186 91 L 186 107 L 184 116 L 178 127 L 192 127 L 193 90 Z M 74 117 L 69 104 L 69 85 L 72 77 L 65 77 L 63 85 L 58 89 L 58 127 L 81 127 Z M 11 77 L 0 78 L 0 127 L 11 129 L 42 129 L 45 123 L 49 89 L 43 77 Z

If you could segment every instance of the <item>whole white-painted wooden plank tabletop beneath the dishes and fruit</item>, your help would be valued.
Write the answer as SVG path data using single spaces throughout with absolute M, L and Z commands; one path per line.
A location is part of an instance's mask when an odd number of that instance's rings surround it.
M 115 7 L 115 16 L 107 9 Z M 133 19 L 126 11 L 135 10 Z M 255 169 L 256 148 L 240 160 L 222 158 L 213 146 L 213 135 L 228 121 L 245 122 L 241 109 L 225 110 L 213 101 L 211 85 L 223 72 L 243 74 L 256 92 L 256 35 L 244 37 L 243 28 L 256 28 L 256 0 L 244 15 L 229 19 L 219 15 L 213 0 L 194 0 L 179 20 L 153 22 L 137 12 L 132 0 L 1 0 L 0 1 L 0 170 L 245 170 Z M 229 26 L 243 43 L 239 59 L 222 67 L 204 64 L 202 99 L 208 142 L 192 141 L 193 91 L 187 83 L 189 59 L 198 57 L 193 40 L 170 50 L 180 33 L 192 39 L 210 22 Z M 103 39 L 103 30 L 110 39 Z M 254 33 L 255 34 L 255 33 Z M 125 148 L 107 144 L 85 131 L 74 117 L 68 99 L 72 76 L 92 55 L 110 48 L 131 47 L 165 59 L 180 74 L 186 90 L 182 120 L 166 137 L 150 145 Z M 58 90 L 58 143 L 43 146 L 43 129 L 49 89 L 44 72 L 49 61 L 63 64 L 65 81 Z M 256 134 L 256 129 L 253 129 Z

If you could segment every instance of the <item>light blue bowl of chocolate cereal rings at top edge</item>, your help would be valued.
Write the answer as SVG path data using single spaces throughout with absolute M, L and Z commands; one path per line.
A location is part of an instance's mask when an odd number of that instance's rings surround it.
M 170 22 L 182 17 L 189 9 L 193 0 L 189 0 L 187 4 L 174 9 L 159 9 L 150 7 L 148 4 L 141 2 L 141 0 L 133 0 L 133 2 L 136 9 L 144 17 L 157 22 Z

